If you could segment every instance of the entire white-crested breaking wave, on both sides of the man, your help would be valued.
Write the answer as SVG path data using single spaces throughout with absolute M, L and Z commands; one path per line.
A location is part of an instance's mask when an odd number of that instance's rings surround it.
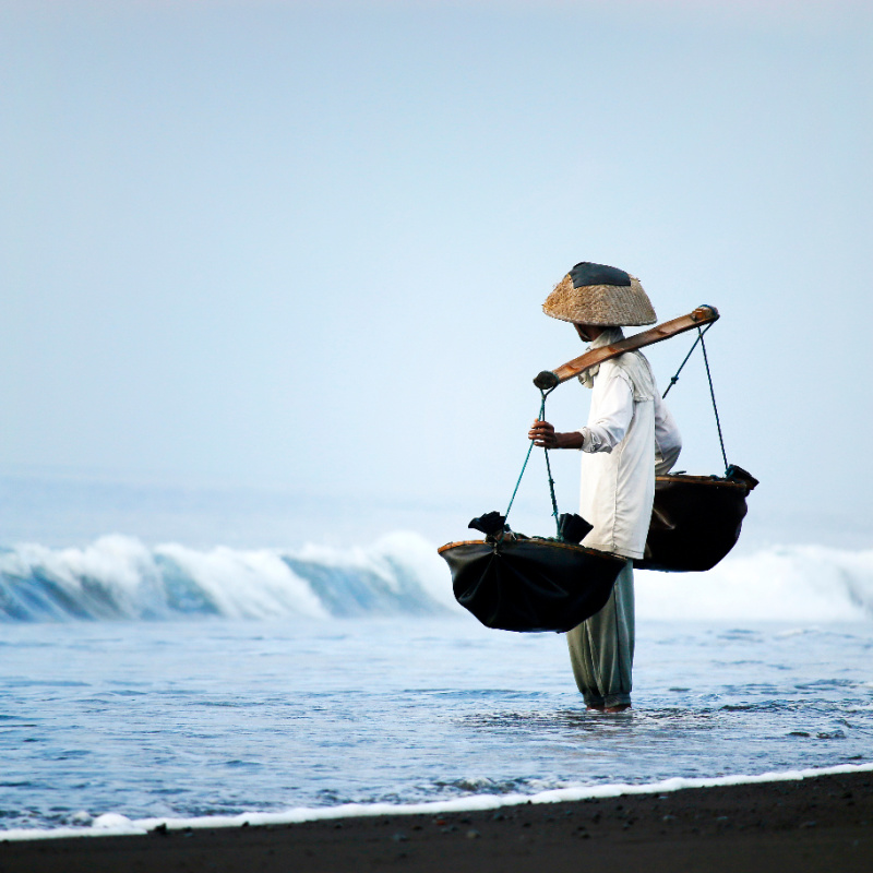
M 873 618 L 873 550 L 821 546 L 730 555 L 708 573 L 636 574 L 642 620 Z M 356 618 L 458 613 L 432 543 L 393 534 L 368 549 L 203 551 L 107 536 L 84 548 L 0 552 L 0 621 Z

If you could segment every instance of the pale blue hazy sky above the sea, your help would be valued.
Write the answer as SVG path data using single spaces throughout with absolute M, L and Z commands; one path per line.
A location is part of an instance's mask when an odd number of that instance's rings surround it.
M 590 260 L 721 311 L 750 524 L 873 546 L 872 73 L 861 2 L 0 0 L 0 469 L 459 538 L 582 351 L 540 306 Z M 679 466 L 719 473 L 689 368 Z

